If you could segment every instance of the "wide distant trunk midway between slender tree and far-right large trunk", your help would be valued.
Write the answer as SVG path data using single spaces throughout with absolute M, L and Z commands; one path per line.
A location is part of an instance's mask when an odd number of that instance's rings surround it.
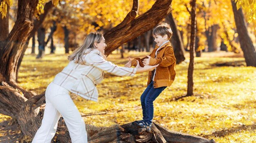
M 217 30 L 218 25 L 214 24 L 209 27 L 207 33 L 207 41 L 208 41 L 208 52 L 213 52 L 217 50 Z

